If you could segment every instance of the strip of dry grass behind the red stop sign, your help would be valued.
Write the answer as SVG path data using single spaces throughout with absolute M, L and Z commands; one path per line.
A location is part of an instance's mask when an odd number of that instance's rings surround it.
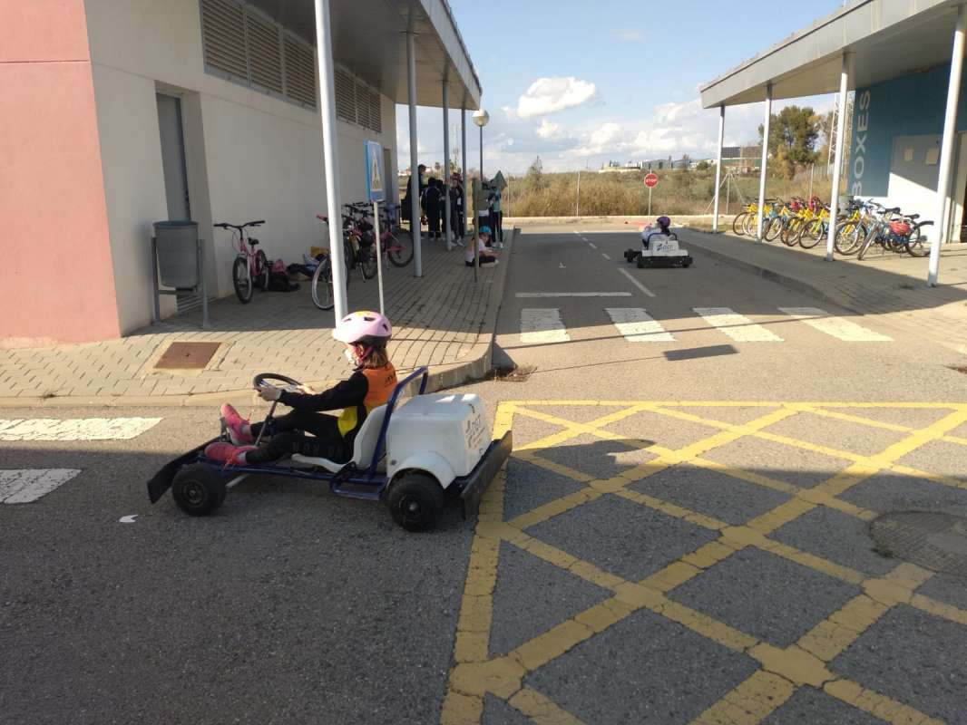
M 644 172 L 582 172 L 578 209 L 576 172 L 514 177 L 510 180 L 510 188 L 504 193 L 504 214 L 508 217 L 644 215 L 648 213 L 648 189 L 642 183 L 643 179 Z M 715 170 L 660 172 L 659 185 L 652 189 L 652 214 L 711 214 L 715 183 Z M 738 178 L 737 185 L 746 199 L 758 197 L 758 177 Z M 813 192 L 828 200 L 831 186 L 829 180 L 818 180 L 813 185 Z M 805 197 L 808 191 L 808 178 L 803 181 L 769 179 L 766 187 L 768 196 L 779 198 Z M 741 199 L 733 186 L 728 213 L 736 214 L 740 203 Z M 723 188 L 719 213 L 725 212 Z

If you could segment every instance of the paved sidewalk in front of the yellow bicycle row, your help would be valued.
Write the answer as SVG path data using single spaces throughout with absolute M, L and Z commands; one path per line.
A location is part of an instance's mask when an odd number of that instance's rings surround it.
M 892 323 L 967 354 L 967 245 L 945 248 L 940 284 L 926 286 L 927 259 L 874 252 L 862 262 L 822 248 L 756 244 L 733 234 L 682 230 L 683 246 L 703 249 L 745 269 L 864 315 L 889 315 Z

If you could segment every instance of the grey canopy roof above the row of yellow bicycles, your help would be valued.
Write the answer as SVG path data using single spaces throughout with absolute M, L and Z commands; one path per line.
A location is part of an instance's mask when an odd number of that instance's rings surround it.
M 839 89 L 842 54 L 854 53 L 854 87 L 951 60 L 954 0 L 853 0 L 700 87 L 702 106 L 801 98 Z

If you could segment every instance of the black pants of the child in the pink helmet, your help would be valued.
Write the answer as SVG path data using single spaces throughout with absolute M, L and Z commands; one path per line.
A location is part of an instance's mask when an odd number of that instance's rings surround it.
M 265 423 L 252 423 L 251 434 L 258 437 Z M 307 436 L 306 433 L 311 433 Z M 272 434 L 271 438 L 269 434 Z M 339 435 L 337 418 L 325 413 L 292 411 L 272 421 L 258 449 L 249 450 L 249 463 L 274 461 L 290 453 L 302 453 L 313 458 L 328 458 L 336 463 L 346 463 L 353 457 L 352 439 Z

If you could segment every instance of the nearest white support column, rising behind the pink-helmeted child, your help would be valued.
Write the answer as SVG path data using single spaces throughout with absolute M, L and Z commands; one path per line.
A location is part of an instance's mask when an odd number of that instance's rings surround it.
M 323 167 L 326 173 L 326 212 L 329 215 L 329 253 L 333 259 L 333 307 L 337 320 L 346 316 L 346 263 L 342 255 L 342 207 L 339 203 L 339 160 L 336 140 L 336 84 L 333 80 L 333 38 L 329 0 L 315 0 L 315 46 L 319 63 L 319 117 L 322 121 Z

